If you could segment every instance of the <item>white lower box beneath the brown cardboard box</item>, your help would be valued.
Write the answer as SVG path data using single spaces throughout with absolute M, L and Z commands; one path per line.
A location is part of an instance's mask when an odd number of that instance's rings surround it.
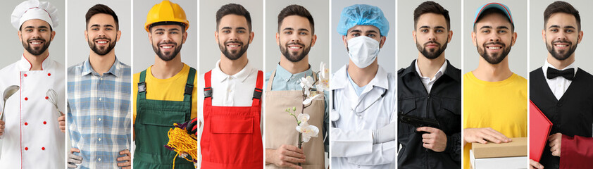
M 470 150 L 470 168 L 473 169 L 499 169 L 499 168 L 528 168 L 527 156 L 475 158 Z

